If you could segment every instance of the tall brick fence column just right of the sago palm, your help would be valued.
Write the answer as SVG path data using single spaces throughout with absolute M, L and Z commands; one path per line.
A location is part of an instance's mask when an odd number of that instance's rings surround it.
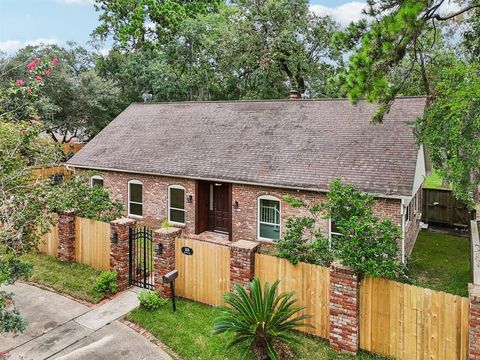
M 352 269 L 336 261 L 330 266 L 330 346 L 350 354 L 359 347 L 359 284 Z

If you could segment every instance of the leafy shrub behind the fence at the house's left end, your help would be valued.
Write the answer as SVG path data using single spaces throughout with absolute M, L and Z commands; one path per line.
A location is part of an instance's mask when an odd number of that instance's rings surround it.
M 55 210 L 75 210 L 78 216 L 105 222 L 119 218 L 124 212 L 123 204 L 111 200 L 105 188 L 90 186 L 89 179 L 93 174 L 76 173 L 56 186 L 52 199 Z

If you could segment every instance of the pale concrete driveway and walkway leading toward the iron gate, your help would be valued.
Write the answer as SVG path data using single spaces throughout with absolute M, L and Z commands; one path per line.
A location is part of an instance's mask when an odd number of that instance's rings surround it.
M 8 359 L 171 359 L 117 321 L 139 305 L 134 290 L 94 309 L 32 285 L 6 290 L 15 293 L 29 323 L 24 334 L 0 334 L 0 352 L 8 351 Z

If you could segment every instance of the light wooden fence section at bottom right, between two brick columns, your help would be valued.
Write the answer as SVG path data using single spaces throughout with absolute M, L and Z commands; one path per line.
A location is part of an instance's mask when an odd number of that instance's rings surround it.
M 366 278 L 360 286 L 360 348 L 396 359 L 467 359 L 467 298 Z

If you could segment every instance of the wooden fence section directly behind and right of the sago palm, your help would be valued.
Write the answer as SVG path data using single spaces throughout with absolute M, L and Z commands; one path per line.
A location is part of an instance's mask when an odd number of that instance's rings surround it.
M 295 291 L 298 304 L 305 306 L 304 313 L 312 316 L 306 321 L 314 328 L 300 331 L 328 338 L 328 301 L 330 272 L 328 268 L 299 263 L 293 265 L 285 259 L 256 254 L 255 275 L 262 284 L 280 280 L 279 290 Z

